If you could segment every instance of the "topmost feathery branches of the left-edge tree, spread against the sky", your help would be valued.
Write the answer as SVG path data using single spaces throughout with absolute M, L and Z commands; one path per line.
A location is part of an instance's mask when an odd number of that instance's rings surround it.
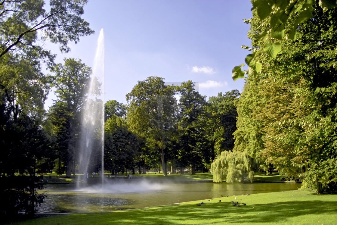
M 43 0 L 1 1 L 0 58 L 3 60 L 7 53 L 16 57 L 25 54 L 27 49 L 49 56 L 50 52 L 36 43 L 38 38 L 59 44 L 61 52 L 69 52 L 69 41 L 77 43 L 81 36 L 94 33 L 81 18 L 86 3 L 87 0 L 51 0 L 47 11 Z

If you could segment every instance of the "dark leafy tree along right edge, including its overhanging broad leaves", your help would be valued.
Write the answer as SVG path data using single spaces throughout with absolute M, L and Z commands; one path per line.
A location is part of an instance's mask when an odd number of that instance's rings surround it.
M 335 1 L 254 1 L 254 17 L 246 20 L 255 35 L 246 57 L 249 76 L 261 74 L 277 85 L 300 84 L 287 85 L 287 90 L 294 99 L 302 98 L 304 113 L 274 123 L 272 138 L 302 156 L 293 165 L 305 172 L 303 187 L 314 184 L 317 193 L 336 182 L 337 174 L 335 7 Z M 242 76 L 235 67 L 233 78 Z

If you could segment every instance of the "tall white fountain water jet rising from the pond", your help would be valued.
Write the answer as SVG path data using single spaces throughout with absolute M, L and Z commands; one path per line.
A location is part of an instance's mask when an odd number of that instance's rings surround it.
M 104 32 L 100 30 L 87 99 L 82 110 L 79 144 L 79 172 L 94 172 L 101 152 L 102 187 L 104 177 Z M 100 151 L 101 150 L 101 151 Z

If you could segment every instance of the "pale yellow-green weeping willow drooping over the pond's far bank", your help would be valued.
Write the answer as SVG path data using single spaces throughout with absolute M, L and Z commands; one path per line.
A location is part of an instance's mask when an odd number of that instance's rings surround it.
M 223 151 L 211 164 L 214 182 L 253 182 L 252 159 L 246 152 Z

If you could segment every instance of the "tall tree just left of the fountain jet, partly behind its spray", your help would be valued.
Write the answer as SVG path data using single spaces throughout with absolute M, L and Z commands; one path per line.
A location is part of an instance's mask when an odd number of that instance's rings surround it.
M 57 100 L 50 110 L 51 122 L 56 135 L 55 151 L 59 160 L 66 165 L 66 173 L 74 173 L 76 160 L 76 139 L 80 133 L 81 110 L 86 102 L 88 84 L 92 70 L 80 59 L 64 59 L 51 69 Z M 98 89 L 98 87 L 97 87 Z M 59 142 L 62 141 L 62 142 Z M 62 146 L 61 146 L 62 145 Z M 60 163 L 59 163 L 60 164 Z

